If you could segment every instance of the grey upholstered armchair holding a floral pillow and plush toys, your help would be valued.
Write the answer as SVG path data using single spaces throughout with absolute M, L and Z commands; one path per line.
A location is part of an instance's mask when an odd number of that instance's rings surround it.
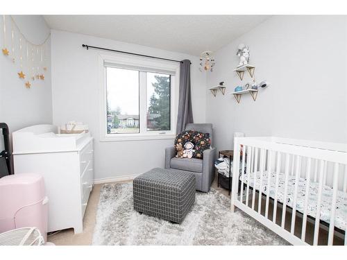
M 196 130 L 209 133 L 212 147 L 212 123 L 189 123 L 185 130 Z M 214 162 L 216 161 L 216 148 L 203 151 L 203 159 L 176 158 L 174 146 L 165 149 L 165 168 L 174 168 L 194 173 L 196 189 L 208 192 L 214 179 Z

